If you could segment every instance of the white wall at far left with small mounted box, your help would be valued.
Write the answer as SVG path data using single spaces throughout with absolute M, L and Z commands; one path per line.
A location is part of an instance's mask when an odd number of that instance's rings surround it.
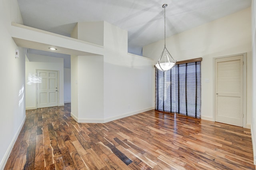
M 23 24 L 16 0 L 0 0 L 0 170 L 4 169 L 10 151 L 24 124 L 25 55 L 10 36 L 10 23 Z M 15 49 L 20 58 L 15 58 Z

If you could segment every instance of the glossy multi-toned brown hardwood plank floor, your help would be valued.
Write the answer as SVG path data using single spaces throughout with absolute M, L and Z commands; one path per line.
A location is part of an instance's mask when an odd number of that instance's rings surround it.
M 246 128 L 154 110 L 76 123 L 70 103 L 26 116 L 5 170 L 255 169 Z

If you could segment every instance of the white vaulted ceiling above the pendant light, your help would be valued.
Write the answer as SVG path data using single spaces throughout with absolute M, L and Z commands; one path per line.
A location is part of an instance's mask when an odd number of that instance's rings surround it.
M 24 25 L 70 36 L 77 22 L 106 21 L 128 31 L 128 52 L 250 7 L 251 0 L 18 0 Z

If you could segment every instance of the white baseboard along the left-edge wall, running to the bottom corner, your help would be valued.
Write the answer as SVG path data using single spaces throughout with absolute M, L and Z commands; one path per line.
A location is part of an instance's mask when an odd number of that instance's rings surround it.
M 14 146 L 14 144 L 15 144 L 15 142 L 16 142 L 16 140 L 17 140 L 19 134 L 20 134 L 20 130 L 22 129 L 22 127 L 23 127 L 25 121 L 26 121 L 26 115 L 25 115 L 24 119 L 22 120 L 22 122 L 21 122 L 21 124 L 20 124 L 18 130 L 16 131 L 14 137 L 12 138 L 12 142 L 10 143 L 8 149 L 6 150 L 3 159 L 2 159 L 1 162 L 0 162 L 0 170 L 3 170 L 3 169 L 4 169 L 4 166 L 5 166 L 5 164 L 6 164 L 7 160 L 8 160 L 8 158 L 9 158 L 9 156 L 10 156 L 10 154 L 11 154 L 12 148 L 13 148 L 13 146 Z

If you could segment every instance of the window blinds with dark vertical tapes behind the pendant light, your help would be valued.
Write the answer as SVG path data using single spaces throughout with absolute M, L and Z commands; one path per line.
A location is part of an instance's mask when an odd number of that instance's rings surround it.
M 201 61 L 179 61 L 169 71 L 155 68 L 156 110 L 201 117 Z

